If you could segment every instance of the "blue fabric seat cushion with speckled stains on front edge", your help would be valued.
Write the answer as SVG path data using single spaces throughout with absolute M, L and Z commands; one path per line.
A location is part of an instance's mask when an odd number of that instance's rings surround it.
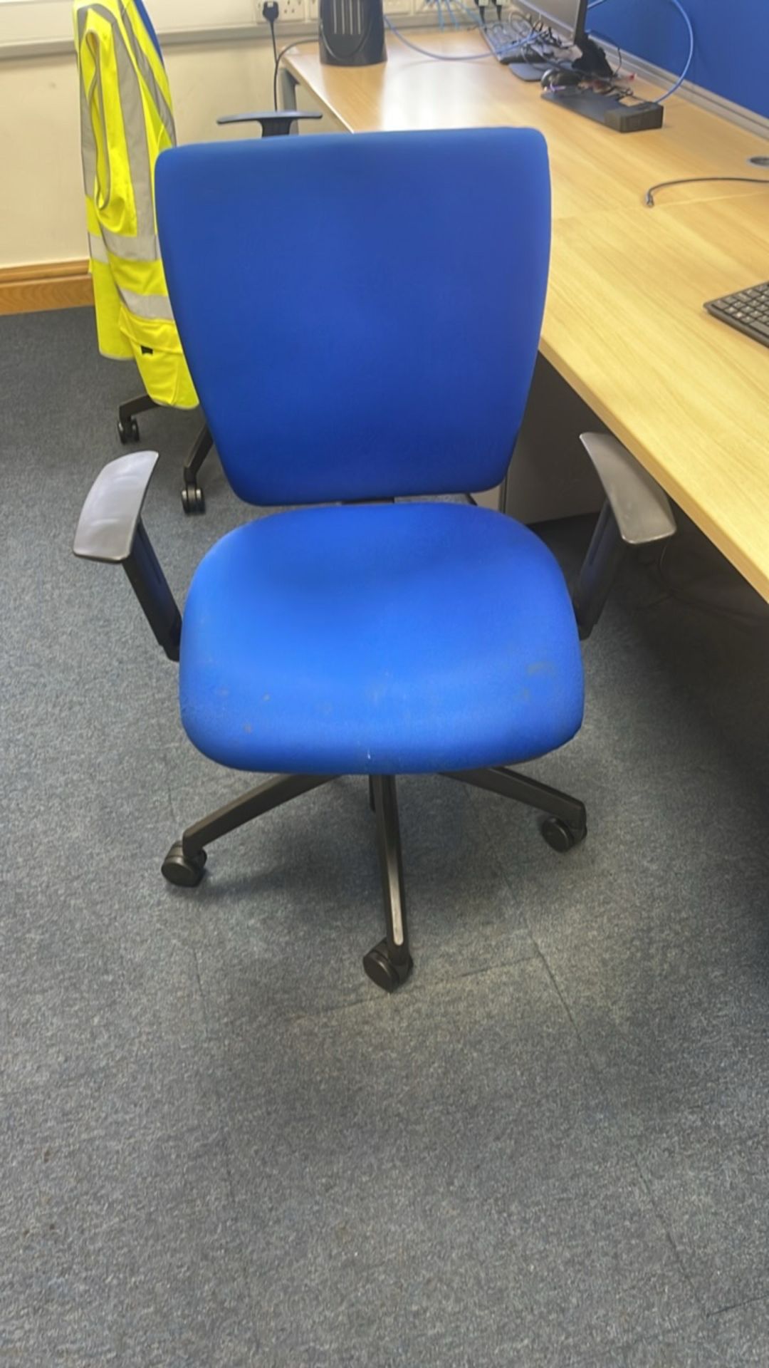
M 187 595 L 179 691 L 194 746 L 261 773 L 512 763 L 583 713 L 556 560 L 458 503 L 296 509 L 222 538 Z

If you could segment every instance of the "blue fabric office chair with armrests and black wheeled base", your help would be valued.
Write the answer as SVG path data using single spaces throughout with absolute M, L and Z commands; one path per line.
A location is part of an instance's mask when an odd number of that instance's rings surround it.
M 386 936 L 364 967 L 393 990 L 412 967 L 397 774 L 531 804 L 560 851 L 586 834 L 580 802 L 505 767 L 582 722 L 561 570 L 512 518 L 428 498 L 497 484 L 516 442 L 547 283 L 545 141 L 493 129 L 178 148 L 159 160 L 157 213 L 224 472 L 249 503 L 300 505 L 213 546 L 183 624 L 141 523 L 155 453 L 111 462 L 83 508 L 75 553 L 126 566 L 181 658 L 193 744 L 278 776 L 187 828 L 163 874 L 194 885 L 209 841 L 368 776 Z M 479 224 L 495 224 L 499 252 L 478 249 Z M 603 517 L 586 629 L 625 532 Z

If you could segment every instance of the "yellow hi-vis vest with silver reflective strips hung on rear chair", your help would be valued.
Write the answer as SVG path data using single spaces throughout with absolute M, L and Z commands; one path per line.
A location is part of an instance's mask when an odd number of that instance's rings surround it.
M 177 142 L 166 68 L 134 0 L 75 0 L 74 21 L 99 350 L 133 357 L 157 404 L 193 408 L 155 219 L 155 163 Z

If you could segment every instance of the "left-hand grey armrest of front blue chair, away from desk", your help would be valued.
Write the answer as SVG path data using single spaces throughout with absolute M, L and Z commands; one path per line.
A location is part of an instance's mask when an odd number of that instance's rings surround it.
M 157 451 L 120 456 L 97 475 L 79 516 L 75 555 L 122 565 L 155 636 L 179 659 L 182 617 L 141 521 Z

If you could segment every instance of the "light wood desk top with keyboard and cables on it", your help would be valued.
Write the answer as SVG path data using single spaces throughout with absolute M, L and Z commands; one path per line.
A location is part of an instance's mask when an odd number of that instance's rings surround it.
M 484 49 L 472 33 L 415 41 Z M 769 186 L 677 186 L 643 204 L 658 181 L 750 175 L 755 135 L 673 97 L 661 130 L 623 137 L 554 108 L 494 60 L 431 62 L 391 34 L 387 47 L 376 67 L 323 66 L 313 47 L 287 67 L 354 133 L 542 130 L 554 216 L 542 353 L 769 599 L 769 350 L 702 309 L 769 278 Z

